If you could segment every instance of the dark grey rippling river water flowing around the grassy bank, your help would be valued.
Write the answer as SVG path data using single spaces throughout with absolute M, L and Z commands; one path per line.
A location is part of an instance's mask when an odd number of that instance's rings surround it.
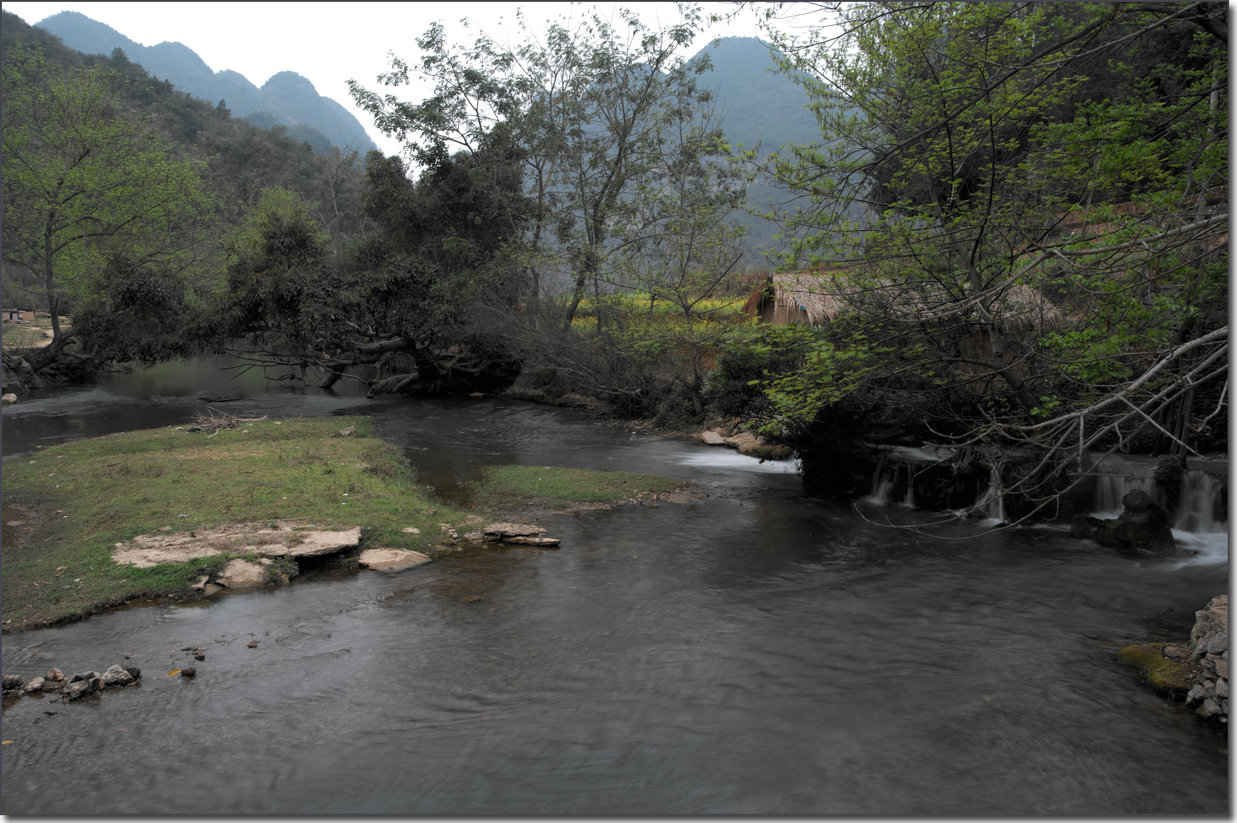
M 5 450 L 199 407 L 124 385 L 19 403 Z M 1189 636 L 1227 590 L 1227 545 L 1137 561 L 1056 528 L 928 538 L 805 498 L 787 463 L 503 400 L 281 389 L 228 411 L 371 413 L 444 494 L 526 463 L 698 495 L 548 517 L 558 551 L 310 572 L 6 635 L 5 673 L 125 653 L 143 670 L 140 687 L 5 707 L 6 813 L 1228 811 L 1226 735 L 1115 658 Z M 36 422 L 57 413 L 61 434 Z M 166 676 L 190 663 L 194 679 Z

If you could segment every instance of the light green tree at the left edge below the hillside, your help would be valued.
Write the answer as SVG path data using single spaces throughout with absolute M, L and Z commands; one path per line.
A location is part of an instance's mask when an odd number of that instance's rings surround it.
M 111 79 L 37 48 L 5 56 L 4 260 L 37 272 L 47 297 L 53 339 L 36 370 L 73 337 L 59 316 L 103 299 L 109 256 L 183 272 L 210 213 L 202 166 L 130 114 Z

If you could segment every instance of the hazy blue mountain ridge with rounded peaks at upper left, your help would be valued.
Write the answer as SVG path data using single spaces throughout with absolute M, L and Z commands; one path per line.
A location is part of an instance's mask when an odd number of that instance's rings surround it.
M 318 94 L 309 80 L 294 72 L 280 72 L 259 88 L 238 72 L 212 71 L 197 52 L 183 43 L 142 46 L 78 11 L 52 15 L 36 27 L 56 35 L 67 47 L 84 54 L 111 54 L 120 48 L 152 77 L 208 103 L 223 100 L 235 116 L 262 127 L 286 126 L 288 134 L 304 139 L 315 149 L 334 145 L 362 153 L 376 149 L 365 127 L 348 109 Z

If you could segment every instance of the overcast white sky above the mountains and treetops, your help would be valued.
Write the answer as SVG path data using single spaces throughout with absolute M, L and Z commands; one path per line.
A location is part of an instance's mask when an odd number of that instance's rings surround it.
M 468 17 L 503 41 L 515 31 L 515 11 L 523 7 L 531 21 L 560 15 L 579 17 L 596 5 L 617 21 L 615 10 L 627 5 L 647 22 L 670 22 L 678 14 L 672 2 L 5 2 L 4 10 L 30 25 L 61 11 L 79 11 L 106 24 L 132 41 L 155 46 L 181 42 L 198 53 L 215 72 L 231 69 L 255 85 L 272 74 L 296 72 L 309 79 L 319 94 L 351 110 L 383 153 L 400 147 L 383 137 L 371 118 L 353 106 L 348 80 L 376 87 L 377 75 L 390 68 L 387 54 L 417 57 L 416 40 L 434 20 L 452 38 L 471 41 L 459 20 Z M 732 4 L 705 2 L 706 10 L 734 11 Z M 541 28 L 537 26 L 536 30 Z M 756 37 L 756 14 L 745 10 L 738 20 L 710 28 L 691 45 L 694 53 L 713 37 Z

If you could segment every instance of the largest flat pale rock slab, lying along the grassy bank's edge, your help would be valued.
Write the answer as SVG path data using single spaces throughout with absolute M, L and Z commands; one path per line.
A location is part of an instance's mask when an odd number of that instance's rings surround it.
M 262 557 L 318 557 L 355 547 L 361 527 L 328 531 L 298 527 L 289 521 L 275 526 L 233 524 L 197 531 L 167 531 L 140 535 L 116 543 L 111 558 L 126 566 L 150 568 L 158 563 L 183 563 L 214 554 L 259 554 Z

